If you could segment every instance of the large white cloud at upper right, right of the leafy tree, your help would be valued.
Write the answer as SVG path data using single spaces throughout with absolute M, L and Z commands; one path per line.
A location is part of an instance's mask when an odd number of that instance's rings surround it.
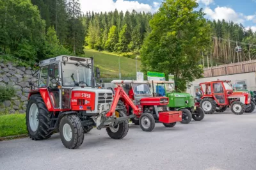
M 246 19 L 246 17 L 248 16 L 244 16 L 241 13 L 237 13 L 235 12 L 232 8 L 226 7 L 226 6 L 222 6 L 222 7 L 217 7 L 214 10 L 211 10 L 211 8 L 206 7 L 204 9 L 204 12 L 206 13 L 206 15 L 209 17 L 209 19 L 215 19 L 215 20 L 222 20 L 225 19 L 227 21 L 233 21 L 236 23 L 242 23 L 244 22 L 244 18 Z M 248 17 L 249 19 L 251 17 Z

